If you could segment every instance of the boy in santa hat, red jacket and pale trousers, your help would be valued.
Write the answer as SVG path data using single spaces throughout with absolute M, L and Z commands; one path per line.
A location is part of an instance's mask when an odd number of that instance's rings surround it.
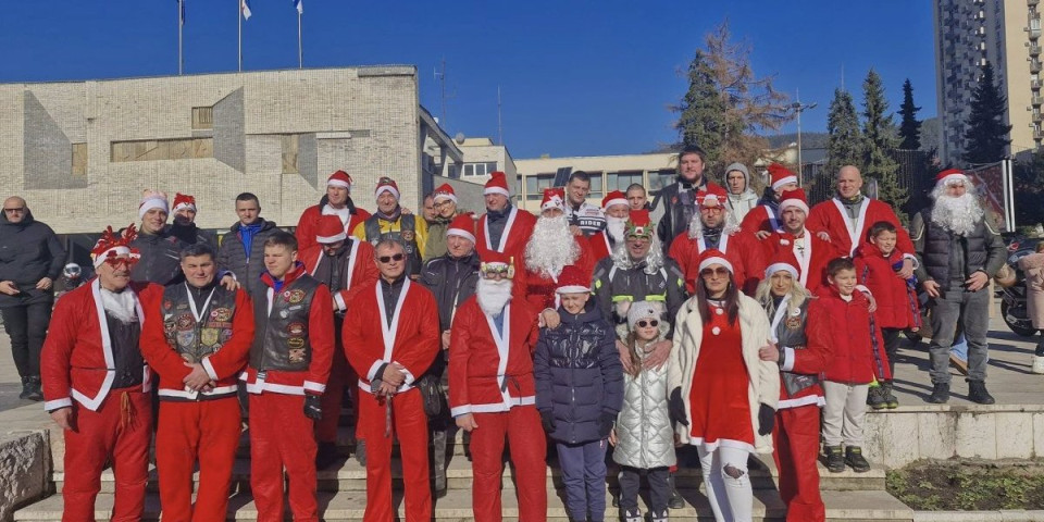
M 819 299 L 808 306 L 808 344 L 825 345 L 833 351 L 823 381 L 823 446 L 826 469 L 840 473 L 850 465 L 857 473 L 870 471 L 862 457 L 862 421 L 867 413 L 867 391 L 874 378 L 892 378 L 881 340 L 881 328 L 873 322 L 870 300 L 856 290 L 856 266 L 848 258 L 826 264 L 829 286 L 820 288 Z M 845 451 L 842 455 L 841 444 Z

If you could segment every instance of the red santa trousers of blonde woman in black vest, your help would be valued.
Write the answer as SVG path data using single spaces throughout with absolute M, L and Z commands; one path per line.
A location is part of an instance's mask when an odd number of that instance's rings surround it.
M 780 471 L 780 498 L 787 522 L 823 522 L 826 508 L 819 494 L 819 407 L 784 408 L 772 427 L 775 468 Z

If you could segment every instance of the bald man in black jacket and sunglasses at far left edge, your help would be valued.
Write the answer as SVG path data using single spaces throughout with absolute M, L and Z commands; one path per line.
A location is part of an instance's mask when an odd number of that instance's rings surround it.
M 25 200 L 12 196 L 0 215 L 0 313 L 22 377 L 18 398 L 44 400 L 40 348 L 51 322 L 51 287 L 62 272 L 65 250 L 50 226 L 33 219 Z

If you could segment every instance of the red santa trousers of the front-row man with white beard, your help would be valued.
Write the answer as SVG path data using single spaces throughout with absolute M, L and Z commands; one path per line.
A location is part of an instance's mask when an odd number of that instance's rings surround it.
M 471 432 L 471 468 L 474 474 L 471 507 L 478 522 L 500 522 L 500 481 L 504 442 L 511 448 L 519 520 L 547 520 L 547 440 L 535 406 L 515 406 L 498 413 L 474 413 Z

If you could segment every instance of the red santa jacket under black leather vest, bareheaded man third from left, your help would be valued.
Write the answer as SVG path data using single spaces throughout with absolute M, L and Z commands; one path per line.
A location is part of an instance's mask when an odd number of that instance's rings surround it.
M 256 290 L 253 299 L 263 299 L 269 310 L 272 310 L 273 300 L 290 298 L 286 287 L 298 277 L 309 275 L 304 272 L 304 265 L 300 262 L 290 269 L 283 277 L 283 290 L 275 291 L 275 281 L 268 272 L 261 274 L 261 288 L 265 291 Z M 262 297 L 263 296 L 263 297 Z M 293 302 L 293 301 L 291 301 Z M 263 380 L 258 378 L 258 370 L 247 364 L 246 371 L 239 375 L 239 380 L 246 381 L 247 391 L 251 394 L 261 394 L 272 391 L 285 395 L 323 395 L 326 390 L 326 381 L 330 378 L 330 368 L 334 361 L 334 307 L 333 298 L 326 285 L 320 284 L 315 287 L 315 295 L 312 296 L 312 306 L 308 310 L 308 344 L 311 347 L 311 360 L 308 363 L 308 370 L 301 372 L 269 370 Z M 257 306 L 254 306 L 254 320 L 257 321 Z M 256 323 L 258 324 L 258 323 Z M 254 330 L 253 335 L 266 335 L 264 328 Z M 254 341 L 257 345 L 258 341 Z M 251 346 L 253 349 L 253 346 Z

